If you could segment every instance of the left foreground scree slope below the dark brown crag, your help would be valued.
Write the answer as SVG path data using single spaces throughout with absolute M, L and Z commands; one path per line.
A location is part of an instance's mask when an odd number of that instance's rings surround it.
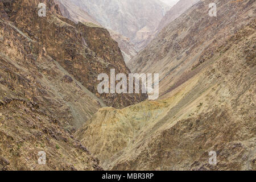
M 39 21 L 35 3 L 0 1 L 0 169 L 101 169 L 72 133 L 103 102 L 47 54 L 32 27 L 22 32 L 14 23 L 24 14 Z M 47 5 L 49 14 L 58 13 Z M 47 165 L 38 164 L 39 151 Z

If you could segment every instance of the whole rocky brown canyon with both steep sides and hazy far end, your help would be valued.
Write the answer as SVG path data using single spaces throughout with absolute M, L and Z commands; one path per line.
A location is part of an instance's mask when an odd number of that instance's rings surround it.
M 216 17 L 210 0 L 132 1 L 165 13 L 115 28 L 98 12 L 131 20 L 128 1 L 94 2 L 0 1 L 0 169 L 255 171 L 255 0 L 216 1 Z M 159 74 L 159 98 L 99 93 L 113 69 Z

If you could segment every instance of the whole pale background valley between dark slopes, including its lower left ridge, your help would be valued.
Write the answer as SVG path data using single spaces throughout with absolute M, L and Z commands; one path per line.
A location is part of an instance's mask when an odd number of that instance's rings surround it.
M 118 42 L 126 63 L 146 46 L 152 32 L 170 9 L 170 6 L 159 0 L 55 1 L 66 18 L 75 22 L 101 24 L 107 28 Z

